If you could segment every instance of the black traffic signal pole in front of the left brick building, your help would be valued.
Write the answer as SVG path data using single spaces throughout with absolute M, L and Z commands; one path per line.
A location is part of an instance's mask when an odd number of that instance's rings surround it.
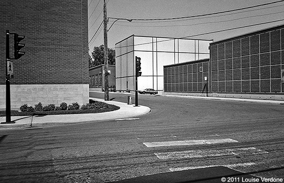
M 8 60 L 10 59 L 9 30 L 6 30 L 6 123 L 11 122 L 10 75 L 8 75 Z

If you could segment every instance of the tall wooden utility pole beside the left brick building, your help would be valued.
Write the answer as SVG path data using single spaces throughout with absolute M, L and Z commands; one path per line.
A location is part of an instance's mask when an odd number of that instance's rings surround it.
M 106 0 L 104 0 L 104 45 L 105 45 L 105 100 L 109 100 L 108 95 L 108 63 L 107 63 L 107 16 L 106 16 Z

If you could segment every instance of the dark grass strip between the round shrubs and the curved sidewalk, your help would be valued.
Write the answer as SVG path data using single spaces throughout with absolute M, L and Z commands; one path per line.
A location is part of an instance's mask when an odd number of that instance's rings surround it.
M 90 103 L 99 103 L 99 102 L 90 100 Z M 45 116 L 45 115 L 104 113 L 104 112 L 109 112 L 109 111 L 115 111 L 120 108 L 115 105 L 106 104 L 106 103 L 104 104 L 107 105 L 108 107 L 107 108 L 102 107 L 98 109 L 85 109 L 85 110 L 59 110 L 59 111 L 35 111 L 35 112 L 19 112 L 19 111 L 11 110 L 11 116 L 32 116 L 32 115 Z M 3 117 L 3 116 L 6 116 L 6 111 L 0 111 L 0 117 Z

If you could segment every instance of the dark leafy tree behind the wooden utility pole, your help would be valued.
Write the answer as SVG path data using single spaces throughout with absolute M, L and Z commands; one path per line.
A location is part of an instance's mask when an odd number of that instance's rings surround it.
M 94 47 L 94 51 L 92 52 L 92 58 L 93 60 L 90 61 L 89 58 L 89 68 L 97 66 L 97 65 L 101 65 L 101 64 L 105 64 L 104 61 L 104 45 L 101 45 L 99 47 Z M 108 56 L 108 64 L 109 65 L 115 65 L 115 50 L 114 49 L 109 49 L 107 48 L 107 56 Z

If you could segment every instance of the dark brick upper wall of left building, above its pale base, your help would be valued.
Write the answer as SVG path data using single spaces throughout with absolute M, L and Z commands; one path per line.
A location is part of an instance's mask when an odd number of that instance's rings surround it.
M 0 12 L 0 85 L 6 30 L 26 36 L 11 85 L 88 84 L 87 0 L 4 0 Z M 13 34 L 10 44 L 13 58 Z

